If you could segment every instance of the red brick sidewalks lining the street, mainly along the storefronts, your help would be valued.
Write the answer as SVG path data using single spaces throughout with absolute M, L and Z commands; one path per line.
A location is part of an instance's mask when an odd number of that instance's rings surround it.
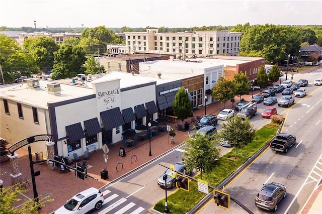
M 314 66 L 315 68 L 316 66 Z M 306 72 L 310 72 L 315 69 L 307 69 Z M 301 72 L 304 73 L 304 72 Z M 258 91 L 256 91 L 258 92 Z M 251 93 L 251 92 L 250 92 Z M 246 94 L 242 97 L 245 99 L 250 100 L 250 94 Z M 236 101 L 239 101 L 239 97 L 235 97 Z M 235 104 L 235 103 L 234 103 Z M 206 114 L 214 114 L 218 115 L 219 111 L 222 109 L 229 109 L 231 108 L 231 102 L 227 101 L 225 106 L 224 103 L 214 102 L 207 105 Z M 194 116 L 203 116 L 205 115 L 205 108 L 201 106 L 200 110 L 196 110 L 193 112 Z M 187 120 L 190 120 L 188 118 Z M 178 121 L 177 124 L 181 124 L 181 121 Z M 177 124 L 168 123 L 172 128 L 175 128 Z M 192 129 L 192 125 L 190 126 Z M 52 202 L 47 202 L 44 207 L 42 207 L 39 211 L 41 213 L 51 213 L 60 207 L 62 204 L 66 202 L 66 200 L 73 196 L 74 194 L 81 192 L 84 189 L 87 189 L 91 186 L 100 188 L 105 184 L 123 176 L 126 173 L 131 172 L 137 167 L 145 164 L 146 162 L 155 159 L 159 155 L 166 153 L 167 151 L 177 147 L 180 145 L 184 140 L 188 139 L 188 132 L 181 132 L 176 131 L 175 137 L 175 144 L 171 144 L 171 138 L 169 137 L 168 132 L 159 132 L 155 137 L 151 138 L 151 154 L 149 156 L 149 139 L 147 138 L 144 141 L 135 140 L 134 147 L 125 147 L 123 141 L 118 142 L 116 144 L 110 145 L 109 152 L 108 152 L 108 161 L 107 163 L 104 162 L 103 158 L 103 151 L 99 149 L 95 152 L 90 153 L 90 158 L 87 160 L 88 167 L 88 174 L 92 175 L 95 178 L 98 178 L 98 181 L 87 178 L 85 180 L 81 180 L 75 177 L 75 173 L 69 172 L 60 172 L 60 169 L 50 170 L 47 167 L 47 163 L 43 163 L 40 165 L 34 164 L 34 171 L 40 171 L 40 175 L 36 177 L 36 186 L 37 192 L 40 198 L 44 195 L 50 195 L 51 199 L 54 199 Z M 125 148 L 125 157 L 119 156 L 119 149 L 120 147 Z M 25 150 L 26 149 L 26 150 Z M 26 188 L 28 192 L 24 193 L 28 198 L 33 198 L 33 188 L 31 182 L 31 175 L 30 175 L 30 164 L 28 158 L 28 151 L 27 148 L 20 149 L 16 153 L 19 155 L 18 162 L 19 162 L 19 169 L 22 173 L 22 178 L 27 179 L 31 186 L 27 184 Z M 32 151 L 33 153 L 36 151 Z M 46 157 L 46 154 L 44 154 Z M 33 157 L 35 160 L 35 157 Z M 101 179 L 101 171 L 102 169 L 107 168 L 108 170 L 108 179 L 104 180 Z M 0 178 L 4 181 L 4 187 L 12 185 L 11 182 L 11 166 L 10 161 L 6 161 L 1 163 L 0 169 Z M 322 192 L 320 191 L 321 187 L 318 188 L 318 192 L 316 192 L 317 196 L 314 198 L 314 194 L 312 195 L 311 199 L 307 203 L 307 207 L 311 208 L 312 210 L 318 206 L 318 202 L 321 201 Z M 318 199 L 318 200 L 315 200 Z M 311 204 L 311 205 L 310 205 Z M 312 210 L 303 213 L 316 213 L 312 212 Z M 305 209 L 304 209 L 305 210 Z M 319 209 L 321 212 L 321 208 Z

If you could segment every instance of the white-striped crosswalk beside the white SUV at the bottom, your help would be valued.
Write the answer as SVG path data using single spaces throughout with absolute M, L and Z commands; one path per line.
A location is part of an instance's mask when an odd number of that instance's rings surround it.
M 133 202 L 128 201 L 124 197 L 119 197 L 118 194 L 111 193 L 110 190 L 105 190 L 102 192 L 104 195 L 104 202 L 103 207 L 99 210 L 98 214 L 105 214 L 105 213 L 115 213 L 115 214 L 139 214 L 141 213 L 144 208 L 137 205 Z M 105 207 L 105 204 L 109 204 Z

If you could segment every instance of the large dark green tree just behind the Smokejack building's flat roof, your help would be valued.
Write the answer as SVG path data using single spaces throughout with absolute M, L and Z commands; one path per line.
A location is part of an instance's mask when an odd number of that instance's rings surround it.
M 86 52 L 82 47 L 63 45 L 54 55 L 52 79 L 74 77 L 78 73 L 85 72 L 83 65 L 86 61 Z

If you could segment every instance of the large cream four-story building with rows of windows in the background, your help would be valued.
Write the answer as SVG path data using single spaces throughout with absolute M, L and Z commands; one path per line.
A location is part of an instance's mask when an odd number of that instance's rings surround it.
M 177 54 L 179 58 L 222 54 L 237 56 L 241 36 L 240 32 L 228 31 L 159 33 L 158 29 L 124 34 L 130 50 L 138 53 Z

